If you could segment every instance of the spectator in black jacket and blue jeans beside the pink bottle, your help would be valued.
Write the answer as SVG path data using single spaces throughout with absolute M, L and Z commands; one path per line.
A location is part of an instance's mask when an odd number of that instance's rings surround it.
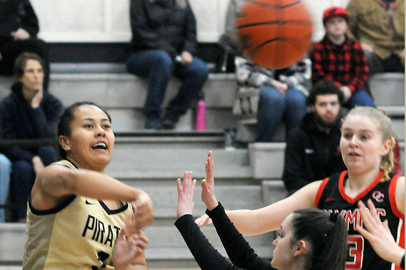
M 131 0 L 130 73 L 148 79 L 144 105 L 146 129 L 173 129 L 197 98 L 208 75 L 196 53 L 196 21 L 188 0 Z M 162 115 L 169 79 L 182 80 L 177 96 Z

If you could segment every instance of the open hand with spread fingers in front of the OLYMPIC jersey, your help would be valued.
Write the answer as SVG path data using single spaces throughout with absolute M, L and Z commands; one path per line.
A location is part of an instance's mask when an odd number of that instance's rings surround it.
M 357 223 L 355 229 L 369 241 L 372 248 L 382 259 L 400 265 L 400 261 L 404 256 L 404 249 L 399 247 L 395 239 L 393 239 L 389 230 L 388 220 L 381 222 L 378 213 L 376 213 L 376 208 L 370 199 L 367 204 L 369 210 L 363 202 L 358 202 L 358 208 L 365 228 L 358 226 L 359 223 Z

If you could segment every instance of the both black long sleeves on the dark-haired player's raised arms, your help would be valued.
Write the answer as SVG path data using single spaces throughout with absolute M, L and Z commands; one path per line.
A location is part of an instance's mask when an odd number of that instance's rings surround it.
M 258 257 L 242 234 L 234 227 L 220 202 L 216 208 L 212 211 L 206 211 L 206 213 L 212 219 L 227 255 L 234 265 L 214 249 L 200 228 L 194 223 L 192 215 L 184 215 L 175 221 L 175 226 L 183 236 L 201 269 L 275 269 L 269 261 Z

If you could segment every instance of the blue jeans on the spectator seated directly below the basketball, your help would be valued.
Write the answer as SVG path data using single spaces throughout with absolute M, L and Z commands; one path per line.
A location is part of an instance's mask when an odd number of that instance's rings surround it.
M 283 97 L 275 87 L 263 86 L 258 102 L 257 142 L 271 142 L 283 119 L 288 134 L 299 125 L 306 111 L 306 96 L 302 91 L 289 88 Z

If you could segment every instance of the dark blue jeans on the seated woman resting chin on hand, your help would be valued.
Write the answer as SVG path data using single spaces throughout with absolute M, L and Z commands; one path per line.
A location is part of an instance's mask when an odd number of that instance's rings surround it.
M 56 161 L 56 152 L 53 147 L 42 146 L 36 153 L 41 158 L 44 166 Z M 16 160 L 12 164 L 10 181 L 10 202 L 13 221 L 26 218 L 27 199 L 30 196 L 35 180 L 32 162 Z

